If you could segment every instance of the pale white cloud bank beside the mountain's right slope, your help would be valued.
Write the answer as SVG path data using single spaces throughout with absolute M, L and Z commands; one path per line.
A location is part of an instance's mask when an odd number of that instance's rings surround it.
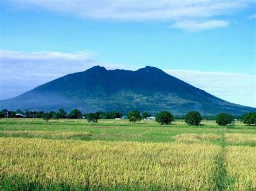
M 256 107 L 255 75 L 171 69 L 165 72 L 226 101 Z

